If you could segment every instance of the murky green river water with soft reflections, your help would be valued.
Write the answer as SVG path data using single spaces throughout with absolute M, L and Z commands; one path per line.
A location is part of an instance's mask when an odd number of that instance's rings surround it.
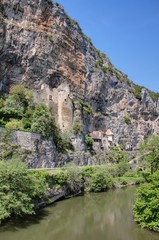
M 159 240 L 132 216 L 135 187 L 91 193 L 43 209 L 36 217 L 0 227 L 0 240 Z

